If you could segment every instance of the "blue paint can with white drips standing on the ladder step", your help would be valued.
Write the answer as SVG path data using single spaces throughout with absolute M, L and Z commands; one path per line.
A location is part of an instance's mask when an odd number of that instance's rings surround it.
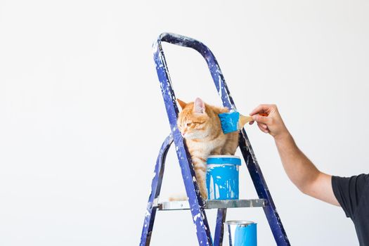
M 207 157 L 207 199 L 238 199 L 240 164 L 240 157 L 235 155 L 209 155 Z

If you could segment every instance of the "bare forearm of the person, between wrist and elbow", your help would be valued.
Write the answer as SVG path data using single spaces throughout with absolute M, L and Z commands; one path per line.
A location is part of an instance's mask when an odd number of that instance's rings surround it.
M 309 188 L 321 172 L 299 150 L 290 133 L 275 138 L 275 141 L 287 176 L 303 193 L 313 195 L 309 194 Z

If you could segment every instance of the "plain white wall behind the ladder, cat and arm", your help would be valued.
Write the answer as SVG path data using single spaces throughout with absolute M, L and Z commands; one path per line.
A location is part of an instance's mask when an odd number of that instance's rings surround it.
M 0 1 L 0 245 L 138 245 L 169 133 L 151 44 L 215 53 L 238 109 L 276 103 L 329 174 L 368 172 L 368 1 Z M 164 46 L 176 96 L 219 99 L 195 51 Z M 287 179 L 273 139 L 247 127 L 292 245 L 357 245 L 339 207 Z M 245 166 L 242 198 L 256 198 Z M 183 190 L 173 150 L 162 198 Z M 215 211 L 207 213 L 214 226 Z M 274 245 L 262 209 L 259 245 Z M 196 245 L 190 213 L 158 212 L 152 245 Z

